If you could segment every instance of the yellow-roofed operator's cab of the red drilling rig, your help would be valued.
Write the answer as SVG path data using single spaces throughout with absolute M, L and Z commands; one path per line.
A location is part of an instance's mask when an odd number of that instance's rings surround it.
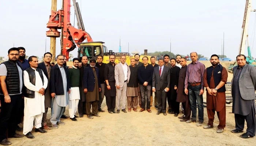
M 108 49 L 106 46 L 103 45 L 104 42 L 83 42 L 78 43 L 80 45 L 78 49 L 78 58 L 79 61 L 82 60 L 83 56 L 87 56 L 88 60 L 91 58 L 95 58 L 99 55 L 104 55 L 108 53 Z

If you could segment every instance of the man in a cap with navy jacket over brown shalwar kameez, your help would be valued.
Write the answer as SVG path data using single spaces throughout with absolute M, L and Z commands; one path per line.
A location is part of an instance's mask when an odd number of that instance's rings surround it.
M 99 69 L 95 65 L 96 60 L 94 58 L 90 59 L 90 67 L 84 70 L 83 75 L 83 87 L 84 93 L 86 93 L 86 114 L 89 119 L 93 119 L 93 116 L 99 117 L 97 113 L 101 84 L 99 81 Z M 93 108 L 92 113 L 91 106 Z

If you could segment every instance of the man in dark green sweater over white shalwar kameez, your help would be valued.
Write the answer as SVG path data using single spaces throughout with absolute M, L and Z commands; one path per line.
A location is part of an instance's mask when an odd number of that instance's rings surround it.
M 80 83 L 80 70 L 78 69 L 79 59 L 73 59 L 73 66 L 68 69 L 68 78 L 70 81 L 70 94 L 69 94 L 69 119 L 77 121 L 76 110 L 78 108 L 78 102 L 80 100 L 79 83 Z

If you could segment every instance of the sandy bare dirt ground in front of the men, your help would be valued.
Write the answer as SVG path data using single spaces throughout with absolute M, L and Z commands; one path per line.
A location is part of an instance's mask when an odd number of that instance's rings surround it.
M 210 61 L 204 62 L 210 66 Z M 228 62 L 222 63 L 228 66 Z M 232 74 L 229 73 L 228 81 Z M 206 95 L 203 96 L 206 101 Z M 203 129 L 208 122 L 207 111 L 204 108 L 204 122 L 202 127 L 196 123 L 180 122 L 173 114 L 156 115 L 157 110 L 151 107 L 152 113 L 143 112 L 120 112 L 120 114 L 109 114 L 99 112 L 101 117 L 88 119 L 77 118 L 74 122 L 70 119 L 61 119 L 64 126 L 58 129 L 48 130 L 47 133 L 32 134 L 34 139 L 10 138 L 13 146 L 246 146 L 256 143 L 256 138 L 242 139 L 241 134 L 233 134 L 230 131 L 235 128 L 232 104 L 226 104 L 226 128 L 221 134 L 216 132 L 218 117 L 215 115 L 214 128 Z M 107 111 L 105 100 L 102 103 L 103 110 Z M 138 107 L 140 110 L 140 108 Z M 68 115 L 66 107 L 65 115 Z M 180 113 L 179 116 L 182 114 Z M 50 112 L 48 112 L 48 119 Z M 50 125 L 50 123 L 49 123 Z M 246 131 L 246 126 L 245 129 Z M 19 132 L 22 133 L 22 132 Z

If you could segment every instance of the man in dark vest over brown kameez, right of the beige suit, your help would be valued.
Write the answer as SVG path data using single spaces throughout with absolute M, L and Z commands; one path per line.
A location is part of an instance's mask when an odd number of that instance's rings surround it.
M 131 65 L 129 66 L 131 70 L 131 75 L 129 82 L 127 83 L 127 108 L 128 112 L 132 110 L 137 112 L 138 107 L 138 90 L 139 90 L 139 82 L 138 82 L 138 66 L 135 66 L 135 59 L 131 58 Z

